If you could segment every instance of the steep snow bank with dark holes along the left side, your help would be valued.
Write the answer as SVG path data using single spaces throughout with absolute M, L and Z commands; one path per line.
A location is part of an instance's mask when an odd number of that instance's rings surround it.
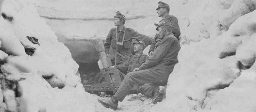
M 34 2 L 1 0 L 0 4 L 1 111 L 94 111 L 92 96 L 77 74 L 78 65 L 39 16 Z M 26 36 L 37 38 L 40 45 Z M 27 55 L 25 47 L 35 51 Z

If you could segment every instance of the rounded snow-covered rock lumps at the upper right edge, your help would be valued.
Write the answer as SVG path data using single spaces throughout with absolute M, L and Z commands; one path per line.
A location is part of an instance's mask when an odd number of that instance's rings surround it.
M 219 58 L 236 54 L 237 60 L 244 66 L 252 66 L 255 61 L 255 18 L 256 11 L 245 14 L 230 25 L 227 32 L 221 35 L 222 48 Z

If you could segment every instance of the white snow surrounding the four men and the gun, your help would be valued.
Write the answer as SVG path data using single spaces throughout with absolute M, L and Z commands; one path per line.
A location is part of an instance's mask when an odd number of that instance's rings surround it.
M 170 14 L 179 20 L 182 44 L 179 63 L 168 79 L 166 99 L 153 105 L 141 94 L 129 95 L 118 103 L 117 111 L 256 111 L 256 12 L 253 11 L 256 1 L 163 2 L 170 5 Z M 5 100 L 1 101 L 0 110 L 113 112 L 97 102 L 98 96 L 83 90 L 76 74 L 78 65 L 71 57 L 73 51 L 59 41 L 65 43 L 66 38 L 74 35 L 106 36 L 114 27 L 112 19 L 116 11 L 128 18 L 126 27 L 153 37 L 156 33 L 153 23 L 161 19 L 156 14 L 157 3 L 156 0 L 4 1 L 1 11 L 13 20 L 0 18 L 3 72 L 0 100 Z M 40 45 L 32 44 L 26 36 L 38 38 Z M 28 56 L 21 43 L 35 48 L 34 54 Z M 78 50 L 94 50 L 90 45 L 83 47 Z M 148 48 L 144 50 L 147 52 Z

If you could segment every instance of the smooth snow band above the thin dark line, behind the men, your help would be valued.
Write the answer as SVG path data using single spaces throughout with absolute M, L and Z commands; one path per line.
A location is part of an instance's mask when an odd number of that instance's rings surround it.
M 122 11 L 127 16 L 127 20 L 144 18 L 148 15 L 154 15 L 148 10 L 155 9 L 156 1 L 147 0 L 113 0 L 111 2 L 105 0 L 69 0 L 45 2 L 38 1 L 36 3 L 40 15 L 49 19 L 60 20 L 113 20 L 110 13 L 115 14 L 116 11 Z M 141 10 L 141 8 L 146 10 Z

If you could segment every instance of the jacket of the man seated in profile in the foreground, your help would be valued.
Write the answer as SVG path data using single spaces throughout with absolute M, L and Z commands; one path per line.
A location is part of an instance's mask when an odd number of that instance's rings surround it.
M 154 68 L 166 71 L 172 71 L 173 64 L 178 61 L 178 53 L 181 49 L 179 40 L 172 34 L 168 34 L 162 39 L 156 41 L 155 51 L 152 56 L 143 63 L 139 70 Z

